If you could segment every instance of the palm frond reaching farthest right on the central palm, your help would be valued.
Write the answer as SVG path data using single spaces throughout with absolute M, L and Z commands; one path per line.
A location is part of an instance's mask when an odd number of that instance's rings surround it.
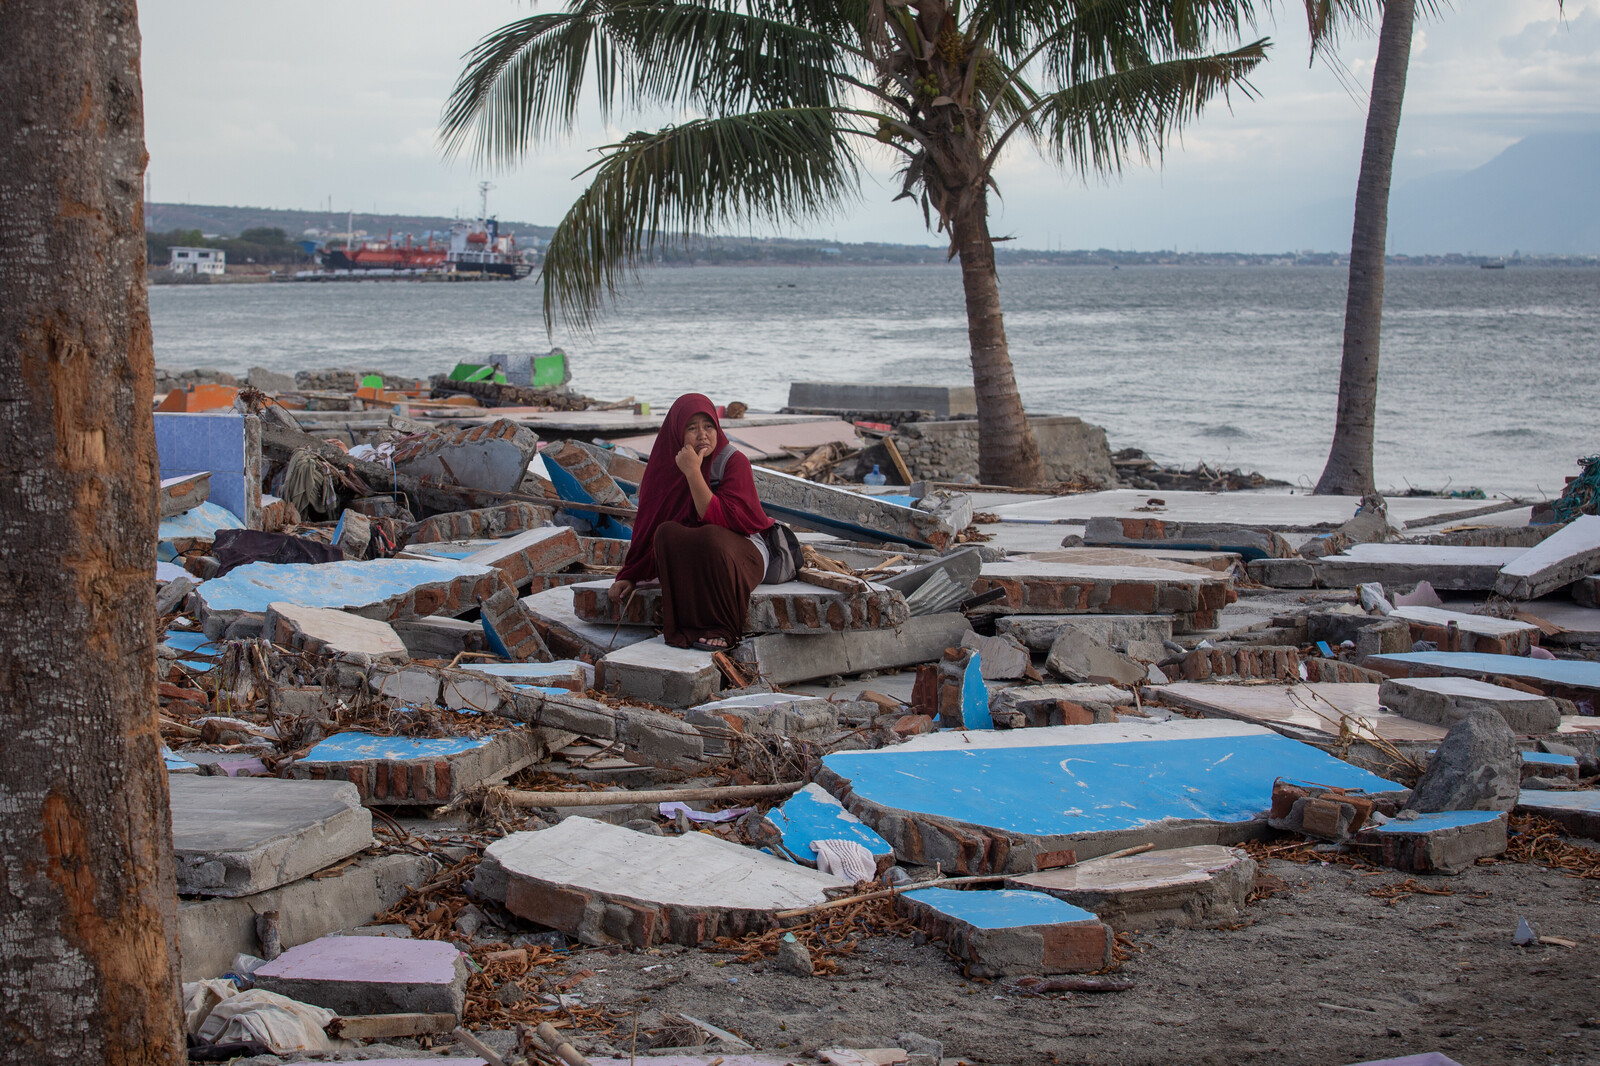
M 1254 90 L 1245 78 L 1266 56 L 1262 38 L 1214 56 L 1118 70 L 1053 93 L 1038 107 L 1045 149 L 1083 176 L 1117 173 L 1130 157 L 1149 162 L 1216 96 L 1227 98 L 1235 88 L 1251 96 Z

